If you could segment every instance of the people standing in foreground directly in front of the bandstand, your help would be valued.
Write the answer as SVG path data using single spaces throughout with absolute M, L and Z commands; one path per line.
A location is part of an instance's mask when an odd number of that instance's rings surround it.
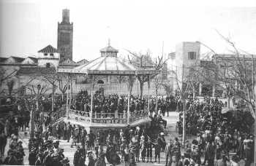
M 78 138 L 75 140 L 80 142 L 74 154 L 75 166 L 83 166 L 86 157 L 89 166 L 104 166 L 105 159 L 111 165 L 118 165 L 121 162 L 131 166 L 138 162 L 160 162 L 160 152 L 164 151 L 166 146 L 164 133 L 154 138 L 152 128 L 148 127 L 128 126 L 124 130 L 102 130 L 96 135 L 86 134 L 81 130 L 78 131 Z

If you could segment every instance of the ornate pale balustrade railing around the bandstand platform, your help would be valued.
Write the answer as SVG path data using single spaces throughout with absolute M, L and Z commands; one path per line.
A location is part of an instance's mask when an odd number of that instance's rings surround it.
M 135 122 L 148 117 L 147 110 L 130 112 L 129 117 L 126 111 L 124 111 L 124 113 L 118 113 L 118 111 L 115 111 L 114 113 L 91 113 L 70 108 L 67 114 L 68 119 L 72 119 L 78 122 L 108 124 L 128 124 L 128 122 Z

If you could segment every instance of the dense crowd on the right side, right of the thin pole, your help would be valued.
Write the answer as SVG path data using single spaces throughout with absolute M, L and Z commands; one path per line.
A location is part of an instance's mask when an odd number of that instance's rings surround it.
M 186 133 L 196 135 L 192 143 L 186 142 L 187 157 L 197 165 L 214 165 L 214 159 L 220 163 L 232 161 L 233 164 L 244 159 L 246 165 L 254 161 L 255 139 L 251 133 L 252 116 L 237 112 L 222 113 L 222 103 L 217 98 L 205 98 L 204 102 L 189 100 L 186 112 Z M 180 104 L 182 106 L 182 104 Z M 182 107 L 179 111 L 182 111 Z M 239 111 L 238 111 L 239 112 Z M 248 115 L 248 114 L 247 114 Z M 178 133 L 182 133 L 183 114 L 177 123 Z M 230 153 L 233 153 L 232 159 Z M 198 154 L 199 157 L 196 157 Z M 195 157 L 193 157 L 195 156 Z M 201 162 L 203 157 L 203 162 Z

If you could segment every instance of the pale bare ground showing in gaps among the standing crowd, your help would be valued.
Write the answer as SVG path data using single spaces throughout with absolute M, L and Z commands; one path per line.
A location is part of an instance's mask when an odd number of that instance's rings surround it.
M 176 112 L 171 112 L 169 114 L 169 116 L 165 116 L 164 117 L 165 120 L 167 120 L 167 129 L 166 129 L 166 133 L 167 135 L 165 135 L 165 140 L 169 141 L 170 138 L 174 139 L 175 137 L 178 137 L 178 134 L 176 133 L 176 122 L 178 120 L 178 114 Z M 193 137 L 188 137 L 189 140 L 192 140 Z M 24 165 L 29 165 L 29 150 L 28 150 L 28 143 L 29 143 L 29 136 L 24 135 L 24 133 L 20 133 L 19 139 L 21 141 L 23 141 L 23 147 L 24 147 L 24 151 L 26 156 L 24 157 Z M 9 139 L 8 139 L 8 143 L 9 144 Z M 9 146 L 7 146 L 8 149 Z M 60 147 L 64 149 L 64 155 L 65 157 L 69 158 L 69 164 L 72 165 L 73 163 L 73 157 L 74 157 L 74 153 L 75 153 L 75 147 L 74 148 L 70 148 L 70 143 L 67 143 L 67 141 L 64 140 L 60 140 Z M 7 152 L 6 149 L 6 152 Z M 153 149 L 153 156 L 154 156 L 154 149 Z M 154 161 L 154 159 L 153 159 Z M 86 165 L 87 165 L 88 159 L 86 159 Z M 108 163 L 106 161 L 106 163 Z M 123 166 L 124 163 L 121 164 L 121 166 Z M 141 166 L 153 166 L 153 165 L 165 165 L 165 153 L 161 153 L 161 157 L 160 157 L 160 164 L 159 163 L 143 163 L 143 162 L 139 162 L 137 165 L 141 165 Z M 241 162 L 241 165 L 244 165 L 244 162 Z

